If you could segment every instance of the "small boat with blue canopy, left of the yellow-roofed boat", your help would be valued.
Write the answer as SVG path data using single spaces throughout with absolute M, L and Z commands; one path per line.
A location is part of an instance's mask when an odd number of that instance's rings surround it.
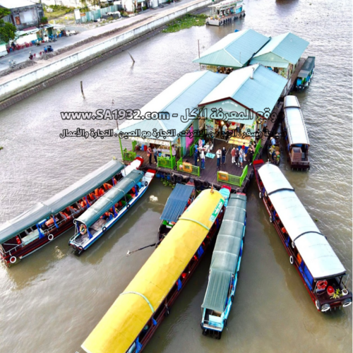
M 170 232 L 170 229 L 177 223 L 179 217 L 186 208 L 191 205 L 196 195 L 195 184 L 188 181 L 187 184 L 175 184 L 172 193 L 169 195 L 167 203 L 164 206 L 160 220 L 160 229 L 158 229 L 158 241 L 162 241 Z

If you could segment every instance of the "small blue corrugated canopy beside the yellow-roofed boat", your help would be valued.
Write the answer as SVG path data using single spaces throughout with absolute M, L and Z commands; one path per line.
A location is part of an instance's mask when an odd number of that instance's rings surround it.
M 194 189 L 192 185 L 176 184 L 165 204 L 160 219 L 177 222 L 179 216 L 184 212 Z

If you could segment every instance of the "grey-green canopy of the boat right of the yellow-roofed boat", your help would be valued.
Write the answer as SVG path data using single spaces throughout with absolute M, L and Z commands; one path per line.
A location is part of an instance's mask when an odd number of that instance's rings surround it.
M 229 283 L 237 268 L 246 215 L 246 196 L 230 196 L 213 251 L 210 279 L 203 299 L 205 309 L 223 312 Z

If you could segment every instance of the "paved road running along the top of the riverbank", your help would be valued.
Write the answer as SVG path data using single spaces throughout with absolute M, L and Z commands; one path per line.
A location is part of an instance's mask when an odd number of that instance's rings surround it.
M 137 16 L 133 16 L 130 18 L 121 18 L 120 20 L 117 20 L 114 23 L 102 25 L 101 27 L 93 28 L 92 30 L 82 30 L 82 32 L 79 32 L 77 35 L 71 35 L 70 37 L 61 37 L 61 38 L 58 38 L 56 42 L 49 43 L 49 44 L 52 45 L 54 50 L 68 47 L 77 42 L 81 42 L 82 40 L 85 40 L 89 37 L 101 35 L 104 32 L 109 32 L 116 28 L 123 28 L 128 25 L 133 25 L 134 23 L 140 22 L 141 20 L 145 20 L 146 18 L 152 17 L 157 13 L 168 11 L 173 7 L 177 8 L 178 6 L 183 6 L 192 1 L 195 1 L 195 0 L 182 0 L 174 4 L 166 4 L 164 8 L 148 9 L 147 11 L 143 11 L 139 13 Z M 68 26 L 68 29 L 70 28 L 71 27 Z M 76 26 L 73 29 L 80 31 L 80 25 Z M 40 52 L 44 52 L 44 47 L 46 45 L 47 44 L 41 44 L 39 47 L 32 46 L 29 48 L 16 50 L 15 52 L 12 52 L 6 56 L 3 56 L 0 59 L 0 71 L 6 70 L 6 68 L 8 68 L 8 60 L 14 60 L 16 61 L 17 64 L 19 64 L 29 59 L 30 52 L 32 52 L 32 54 L 36 54 L 37 57 L 40 56 Z

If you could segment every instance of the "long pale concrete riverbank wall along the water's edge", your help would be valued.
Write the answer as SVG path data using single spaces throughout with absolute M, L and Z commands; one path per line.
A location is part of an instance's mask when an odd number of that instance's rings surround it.
M 2 77 L 0 79 L 0 110 L 117 54 L 121 51 L 119 48 L 124 50 L 125 47 L 127 49 L 126 47 L 130 46 L 129 43 L 136 44 L 138 38 L 151 34 L 151 32 L 156 31 L 175 18 L 184 16 L 186 13 L 204 8 L 211 2 L 212 0 L 196 0 L 184 6 L 172 8 L 141 23 L 131 25 L 131 27 L 112 37 L 85 44 L 83 47 L 54 56 L 35 67 L 31 66 L 23 69 L 23 71 L 16 71 L 11 75 Z

